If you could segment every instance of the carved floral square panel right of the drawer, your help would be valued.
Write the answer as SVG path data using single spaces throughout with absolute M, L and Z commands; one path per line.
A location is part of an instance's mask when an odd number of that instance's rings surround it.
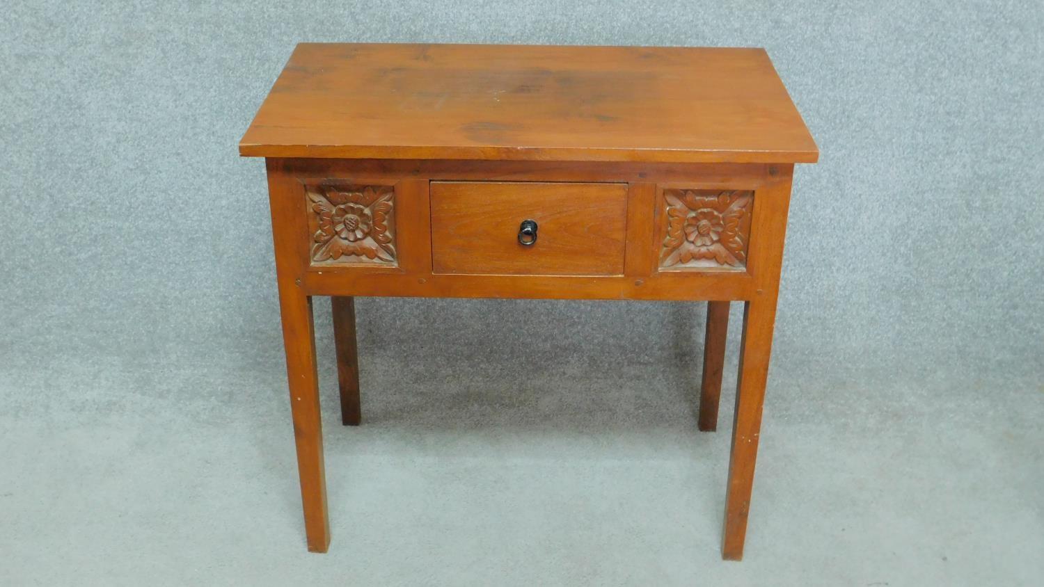
M 754 193 L 664 190 L 662 269 L 746 267 Z

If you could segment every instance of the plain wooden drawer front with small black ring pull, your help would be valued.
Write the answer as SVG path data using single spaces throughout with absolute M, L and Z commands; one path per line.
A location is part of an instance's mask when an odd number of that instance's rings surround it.
M 432 268 L 435 273 L 619 275 L 626 215 L 625 184 L 432 181 Z M 530 245 L 519 242 L 526 220 L 536 223 Z

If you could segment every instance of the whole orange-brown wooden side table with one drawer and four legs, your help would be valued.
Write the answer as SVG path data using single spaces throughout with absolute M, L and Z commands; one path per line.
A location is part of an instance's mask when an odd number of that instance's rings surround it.
M 302 44 L 239 144 L 266 157 L 308 548 L 330 542 L 311 298 L 709 300 L 698 426 L 742 300 L 723 557 L 750 510 L 796 163 L 815 143 L 762 49 Z

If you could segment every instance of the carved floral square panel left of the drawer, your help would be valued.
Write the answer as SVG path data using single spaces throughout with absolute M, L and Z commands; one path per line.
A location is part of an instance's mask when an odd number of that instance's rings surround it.
M 307 186 L 312 264 L 398 264 L 392 186 Z

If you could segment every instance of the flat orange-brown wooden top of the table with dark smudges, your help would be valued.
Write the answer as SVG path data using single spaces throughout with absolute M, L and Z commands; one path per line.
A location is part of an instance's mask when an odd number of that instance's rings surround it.
M 763 49 L 298 45 L 241 155 L 814 163 Z

